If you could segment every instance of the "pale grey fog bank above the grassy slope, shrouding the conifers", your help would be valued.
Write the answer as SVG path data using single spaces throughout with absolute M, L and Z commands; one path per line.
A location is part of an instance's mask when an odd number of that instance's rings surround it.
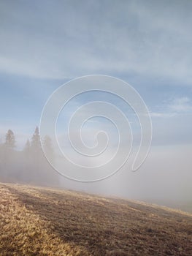
M 22 151 L 17 150 L 12 136 L 15 135 L 7 132 L 5 142 L 1 143 L 1 182 L 74 189 L 97 195 L 142 200 L 185 211 L 192 210 L 191 145 L 152 146 L 147 159 L 136 172 L 131 171 L 135 154 L 132 151 L 126 164 L 112 176 L 101 181 L 80 182 L 70 178 L 70 173 L 77 172 L 70 162 L 62 162 L 63 173 L 60 174 L 50 166 L 39 144 L 38 129 Z M 53 154 L 54 147 L 49 138 L 42 139 L 42 143 L 47 143 L 49 160 L 61 159 L 61 156 Z M 126 151 L 126 147 L 124 150 Z M 69 178 L 65 177 L 67 174 Z

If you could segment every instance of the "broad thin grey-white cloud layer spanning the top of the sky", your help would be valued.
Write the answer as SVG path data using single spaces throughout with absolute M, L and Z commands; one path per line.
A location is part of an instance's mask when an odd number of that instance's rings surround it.
M 191 4 L 165 3 L 38 1 L 35 12 L 1 3 L 0 70 L 37 78 L 132 72 L 190 85 Z

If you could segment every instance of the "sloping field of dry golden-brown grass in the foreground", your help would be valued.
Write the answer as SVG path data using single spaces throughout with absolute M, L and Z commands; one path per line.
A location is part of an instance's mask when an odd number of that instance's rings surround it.
M 0 184 L 0 255 L 192 255 L 192 214 Z

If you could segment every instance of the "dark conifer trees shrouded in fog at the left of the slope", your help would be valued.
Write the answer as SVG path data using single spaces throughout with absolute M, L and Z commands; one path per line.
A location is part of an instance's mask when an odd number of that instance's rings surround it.
M 54 151 L 49 136 L 42 139 L 47 154 L 54 161 Z M 11 129 L 0 144 L 0 182 L 58 186 L 59 175 L 53 170 L 42 151 L 39 128 L 22 151 L 16 149 L 15 134 Z

